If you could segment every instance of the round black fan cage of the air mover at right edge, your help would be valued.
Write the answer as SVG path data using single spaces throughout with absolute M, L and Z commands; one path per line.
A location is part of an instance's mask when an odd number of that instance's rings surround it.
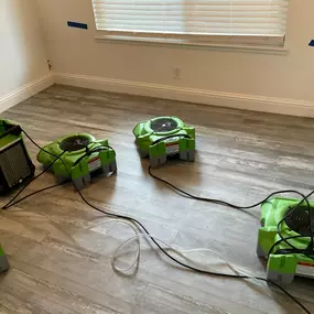
M 314 230 L 314 208 L 310 207 L 310 210 L 312 210 L 311 224 L 312 229 Z M 311 236 L 307 206 L 300 206 L 295 209 L 292 207 L 286 212 L 286 216 L 285 224 L 291 230 L 300 234 L 301 236 Z

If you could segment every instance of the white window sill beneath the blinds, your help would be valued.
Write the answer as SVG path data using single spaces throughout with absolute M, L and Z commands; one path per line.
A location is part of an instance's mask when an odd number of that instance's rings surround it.
M 243 44 L 221 44 L 221 43 L 192 43 L 183 40 L 166 40 L 166 39 L 141 39 L 117 35 L 96 35 L 97 42 L 110 43 L 128 43 L 134 45 L 159 46 L 159 47 L 184 47 L 193 50 L 214 50 L 226 52 L 251 52 L 262 54 L 279 54 L 286 55 L 289 50 L 285 46 L 263 46 L 263 45 L 243 45 Z

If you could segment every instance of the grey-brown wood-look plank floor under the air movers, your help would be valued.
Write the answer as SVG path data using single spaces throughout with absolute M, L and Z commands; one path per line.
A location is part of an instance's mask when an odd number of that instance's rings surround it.
M 196 127 L 194 163 L 154 170 L 191 193 L 239 205 L 275 190 L 313 188 L 314 120 L 110 94 L 54 85 L 2 113 L 41 145 L 65 133 L 108 138 L 118 174 L 96 178 L 83 193 L 106 210 L 141 220 L 178 248 L 213 249 L 249 273 L 264 275 L 256 256 L 259 212 L 249 214 L 181 197 L 148 174 L 132 129 L 154 116 L 178 116 Z M 37 149 L 26 140 L 32 160 Z M 28 192 L 54 184 L 52 174 Z M 10 197 L 2 197 L 4 204 Z M 44 192 L 0 213 L 0 242 L 11 269 L 0 277 L 1 313 L 243 314 L 301 313 L 263 283 L 185 271 L 143 243 L 138 270 L 116 273 L 110 259 L 132 232 L 87 207 L 72 186 Z M 132 248 L 132 247 L 131 247 Z M 126 266 L 128 257 L 121 259 Z M 228 271 L 210 253 L 192 256 L 212 270 Z M 314 311 L 313 282 L 296 279 L 288 290 Z

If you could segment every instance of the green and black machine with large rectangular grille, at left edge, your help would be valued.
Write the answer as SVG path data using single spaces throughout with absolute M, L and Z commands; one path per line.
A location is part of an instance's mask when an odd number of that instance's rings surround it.
M 9 120 L 0 120 L 0 194 L 24 183 L 34 172 L 21 127 Z

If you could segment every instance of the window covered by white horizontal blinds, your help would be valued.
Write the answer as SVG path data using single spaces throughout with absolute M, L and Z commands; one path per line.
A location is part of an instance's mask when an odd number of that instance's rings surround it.
M 178 43 L 284 44 L 289 0 L 93 0 L 105 35 Z

